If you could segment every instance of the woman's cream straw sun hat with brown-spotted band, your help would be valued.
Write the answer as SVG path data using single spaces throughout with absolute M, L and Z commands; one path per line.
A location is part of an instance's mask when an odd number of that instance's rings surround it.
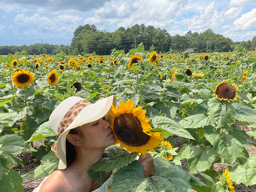
M 116 105 L 114 95 L 93 104 L 81 97 L 70 96 L 56 106 L 50 114 L 49 123 L 52 130 L 58 135 L 57 141 L 51 147 L 59 158 L 58 169 L 66 168 L 66 135 L 69 130 L 102 118 L 112 104 Z M 111 118 L 108 115 L 107 120 L 111 122 Z

